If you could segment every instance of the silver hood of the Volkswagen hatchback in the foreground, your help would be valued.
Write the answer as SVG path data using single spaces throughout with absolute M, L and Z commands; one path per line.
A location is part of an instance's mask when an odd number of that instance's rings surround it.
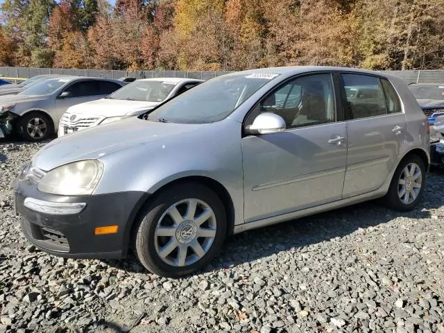
M 134 117 L 55 139 L 33 157 L 33 165 L 49 171 L 62 164 L 97 159 L 135 146 L 143 145 L 147 151 L 154 144 L 183 143 L 203 126 L 211 124 L 160 123 Z

